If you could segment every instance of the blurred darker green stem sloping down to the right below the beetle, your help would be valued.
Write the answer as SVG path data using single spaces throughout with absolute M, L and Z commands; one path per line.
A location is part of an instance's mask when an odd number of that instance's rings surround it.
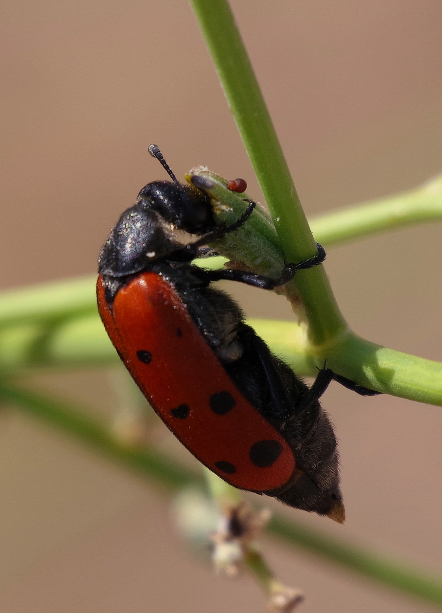
M 124 447 L 113 438 L 109 430 L 83 411 L 66 402 L 58 402 L 37 392 L 0 382 L 0 400 L 24 409 L 43 419 L 59 430 L 86 443 L 91 449 L 137 473 L 153 478 L 169 489 L 194 484 L 204 487 L 202 479 L 188 468 L 175 462 L 151 447 L 133 449 Z M 267 531 L 285 543 L 302 547 L 319 557 L 330 560 L 343 568 L 356 571 L 403 593 L 419 596 L 423 600 L 442 607 L 442 582 L 423 571 L 405 568 L 395 560 L 389 560 L 360 547 L 344 544 L 321 532 L 304 527 L 299 522 L 275 514 Z M 263 571 L 262 568 L 259 569 Z

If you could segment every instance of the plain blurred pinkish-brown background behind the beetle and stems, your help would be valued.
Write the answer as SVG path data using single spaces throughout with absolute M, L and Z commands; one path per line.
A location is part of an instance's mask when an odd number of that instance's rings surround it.
M 232 7 L 309 216 L 442 170 L 440 1 Z M 164 178 L 150 142 L 178 177 L 205 164 L 259 199 L 187 2 L 6 0 L 1 21 L 2 287 L 93 273 L 121 210 Z M 356 332 L 442 360 L 440 235 L 425 225 L 330 250 Z M 283 299 L 227 286 L 249 315 L 291 318 Z M 115 410 L 107 373 L 36 381 Z M 324 405 L 348 520 L 289 516 L 440 573 L 441 409 L 335 384 Z M 16 411 L 0 425 L 2 613 L 265 610 L 249 577 L 220 579 L 192 557 L 158 490 Z M 305 590 L 303 613 L 435 610 L 270 539 L 262 548 Z

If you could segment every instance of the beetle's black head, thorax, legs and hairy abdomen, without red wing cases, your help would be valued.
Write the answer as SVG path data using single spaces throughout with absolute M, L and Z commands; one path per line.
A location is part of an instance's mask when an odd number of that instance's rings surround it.
M 309 389 L 245 324 L 237 303 L 210 286 L 211 281 L 227 279 L 274 289 L 291 280 L 297 270 L 321 264 L 324 249 L 318 245 L 318 255 L 286 265 L 277 279 L 242 270 L 205 270 L 192 265 L 202 246 L 245 223 L 254 203 L 247 201 L 245 214 L 233 226 L 216 225 L 204 191 L 180 185 L 158 148 L 151 145 L 150 151 L 169 172 L 173 183 L 154 181 L 145 186 L 110 233 L 99 256 L 107 303 L 112 305 L 120 287 L 140 272 L 157 273 L 172 284 L 238 389 L 283 434 L 294 451 L 299 469 L 297 481 L 277 492 L 276 498 L 295 508 L 343 521 L 337 443 L 319 397 L 333 378 L 359 394 L 377 392 L 356 386 L 326 368 L 319 371 Z M 200 182 L 198 186 L 204 188 Z M 187 234 L 180 238 L 177 230 Z

